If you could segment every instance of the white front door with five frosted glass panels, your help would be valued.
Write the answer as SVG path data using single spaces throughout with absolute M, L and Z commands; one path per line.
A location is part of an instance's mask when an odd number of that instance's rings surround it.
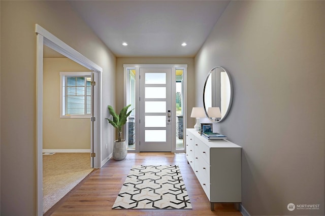
M 140 152 L 172 151 L 171 68 L 140 68 Z

